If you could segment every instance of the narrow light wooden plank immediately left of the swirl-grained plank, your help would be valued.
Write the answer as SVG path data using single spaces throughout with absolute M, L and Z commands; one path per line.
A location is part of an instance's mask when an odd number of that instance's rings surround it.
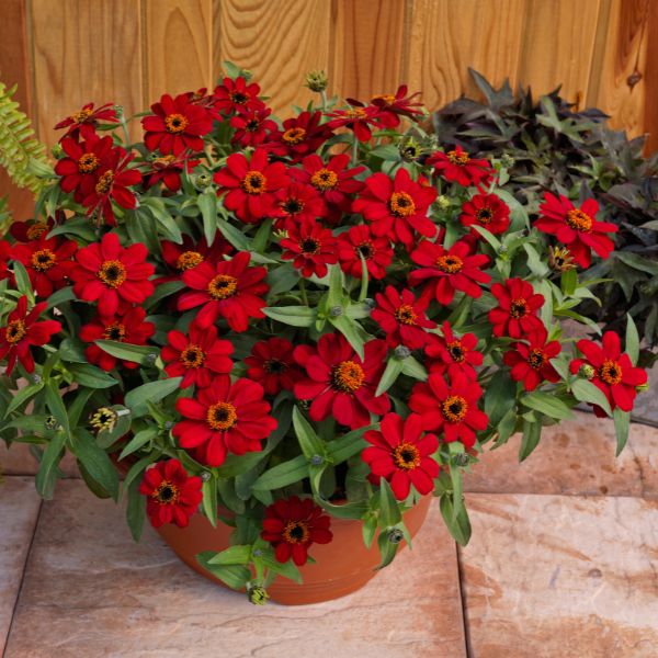
M 213 0 L 144 0 L 148 103 L 213 88 Z

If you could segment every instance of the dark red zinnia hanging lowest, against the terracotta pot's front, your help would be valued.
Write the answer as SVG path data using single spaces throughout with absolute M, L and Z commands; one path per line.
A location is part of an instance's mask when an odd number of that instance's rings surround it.
M 333 538 L 329 530 L 331 520 L 322 514 L 322 508 L 313 503 L 313 498 L 290 500 L 280 498 L 265 508 L 261 538 L 274 546 L 276 561 L 284 564 L 291 557 L 298 567 L 306 564 L 308 548 L 316 544 L 328 544 Z

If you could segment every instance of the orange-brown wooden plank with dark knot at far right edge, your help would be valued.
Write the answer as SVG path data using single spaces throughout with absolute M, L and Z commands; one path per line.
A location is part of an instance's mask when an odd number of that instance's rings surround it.
M 625 129 L 628 138 L 637 137 L 656 126 L 656 63 L 658 56 L 658 25 L 655 0 L 612 0 L 609 15 L 599 21 L 600 41 L 597 48 L 588 94 L 588 105 L 611 115 L 608 125 Z M 651 43 L 649 50 L 649 43 Z M 649 78 L 653 68 L 654 79 Z M 653 137 L 653 144 L 656 137 Z

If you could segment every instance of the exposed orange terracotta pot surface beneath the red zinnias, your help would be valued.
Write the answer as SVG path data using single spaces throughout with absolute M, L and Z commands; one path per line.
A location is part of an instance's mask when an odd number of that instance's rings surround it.
M 113 462 L 116 468 L 124 474 L 131 466 L 131 464 L 117 463 L 115 460 Z M 411 537 L 423 524 L 431 500 L 431 495 L 426 496 L 405 513 L 405 525 Z M 235 515 L 224 508 L 219 508 L 219 513 L 227 518 Z M 318 560 L 318 564 L 307 564 L 299 569 L 304 583 L 298 585 L 294 580 L 277 576 L 276 580 L 268 588 L 270 598 L 286 605 L 307 605 L 340 599 L 360 590 L 377 575 L 377 571 L 373 569 L 379 564 L 377 541 L 375 538 L 368 551 L 363 543 L 362 525 L 362 521 L 332 517 L 333 541 L 330 544 L 311 546 L 310 554 Z M 232 530 L 222 522 L 217 522 L 217 527 L 213 527 L 211 522 L 197 512 L 190 519 L 188 527 L 180 529 L 170 523 L 157 529 L 156 532 L 191 569 L 204 578 L 230 589 L 204 569 L 196 561 L 196 555 L 203 551 L 219 553 L 228 548 L 229 535 Z M 400 548 L 404 546 L 406 546 L 406 542 L 402 541 Z

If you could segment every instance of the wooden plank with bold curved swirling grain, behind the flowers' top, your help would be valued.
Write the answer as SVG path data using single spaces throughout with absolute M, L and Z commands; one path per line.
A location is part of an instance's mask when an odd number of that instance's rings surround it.
M 217 68 L 229 60 L 253 71 L 273 113 L 287 118 L 291 103 L 319 100 L 302 83 L 307 71 L 327 68 L 330 7 L 328 0 L 222 0 Z

